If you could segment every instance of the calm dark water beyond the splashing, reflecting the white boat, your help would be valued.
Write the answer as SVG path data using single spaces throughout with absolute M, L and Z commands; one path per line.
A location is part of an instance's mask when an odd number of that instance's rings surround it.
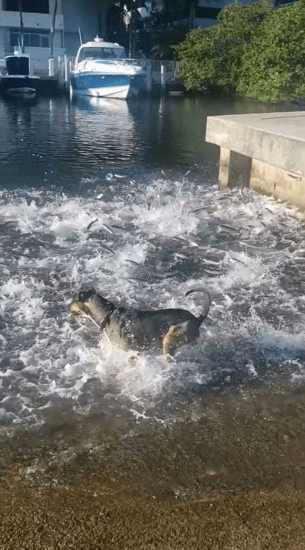
M 215 171 L 217 147 L 204 142 L 207 115 L 263 109 L 273 107 L 210 98 L 2 101 L 0 181 L 9 188 L 43 184 L 68 190 L 82 177 L 102 177 L 109 166 L 146 174 L 208 164 Z

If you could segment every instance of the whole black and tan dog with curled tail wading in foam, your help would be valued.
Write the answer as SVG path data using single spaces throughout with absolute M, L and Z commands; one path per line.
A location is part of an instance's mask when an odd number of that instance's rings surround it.
M 106 300 L 93 288 L 76 293 L 69 304 L 69 311 L 91 319 L 118 348 L 125 351 L 158 348 L 163 349 L 164 355 L 172 356 L 179 346 L 198 338 L 199 327 L 209 312 L 210 296 L 207 290 L 195 288 L 188 290 L 186 296 L 193 292 L 203 292 L 205 295 L 204 309 L 199 317 L 184 309 L 125 309 Z

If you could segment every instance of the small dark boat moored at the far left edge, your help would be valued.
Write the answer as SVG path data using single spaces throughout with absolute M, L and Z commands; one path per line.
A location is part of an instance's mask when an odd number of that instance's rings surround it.
M 5 65 L 8 74 L 1 76 L 2 94 L 14 97 L 35 96 L 40 77 L 30 74 L 30 56 L 24 53 L 6 56 Z

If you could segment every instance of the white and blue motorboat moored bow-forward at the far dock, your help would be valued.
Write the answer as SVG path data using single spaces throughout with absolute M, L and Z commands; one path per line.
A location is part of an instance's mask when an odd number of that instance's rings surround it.
M 71 95 L 125 100 L 137 94 L 145 83 L 146 70 L 126 57 L 123 46 L 102 38 L 82 44 L 71 73 Z

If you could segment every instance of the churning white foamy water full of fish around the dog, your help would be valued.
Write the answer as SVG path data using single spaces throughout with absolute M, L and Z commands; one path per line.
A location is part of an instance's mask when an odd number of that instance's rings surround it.
M 108 177 L 109 179 L 109 177 Z M 91 223 L 94 222 L 94 223 Z M 186 177 L 101 193 L 1 193 L 0 422 L 43 423 L 53 408 L 173 420 L 175 403 L 253 379 L 303 377 L 303 216 L 250 190 Z M 138 357 L 69 316 L 79 287 L 138 308 L 212 307 L 177 361 Z M 181 415 L 181 408 L 179 409 Z

